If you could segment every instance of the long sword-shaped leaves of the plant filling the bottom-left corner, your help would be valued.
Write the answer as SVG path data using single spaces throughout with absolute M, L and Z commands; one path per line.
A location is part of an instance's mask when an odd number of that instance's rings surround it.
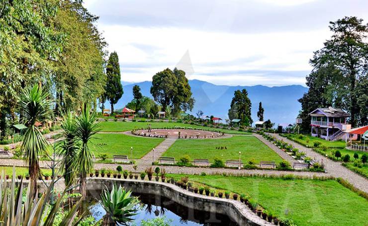
M 13 166 L 13 176 L 10 186 L 4 179 L 4 172 L 0 178 L 0 225 L 1 226 L 53 226 L 54 220 L 58 215 L 58 210 L 62 204 L 64 195 L 63 192 L 59 198 L 51 203 L 52 187 L 54 186 L 55 178 L 50 183 L 50 186 L 38 198 L 36 195 L 32 197 L 33 183 L 28 183 L 26 190 L 26 199 L 22 202 L 23 178 L 19 185 L 15 185 L 15 167 Z M 10 190 L 9 190 L 10 189 Z M 9 191 L 8 191 L 9 190 Z M 60 226 L 78 225 L 81 218 L 76 219 L 78 208 L 81 205 L 80 199 L 69 211 L 62 217 Z M 49 210 L 49 208 L 51 208 Z M 82 217 L 84 214 L 82 214 Z

